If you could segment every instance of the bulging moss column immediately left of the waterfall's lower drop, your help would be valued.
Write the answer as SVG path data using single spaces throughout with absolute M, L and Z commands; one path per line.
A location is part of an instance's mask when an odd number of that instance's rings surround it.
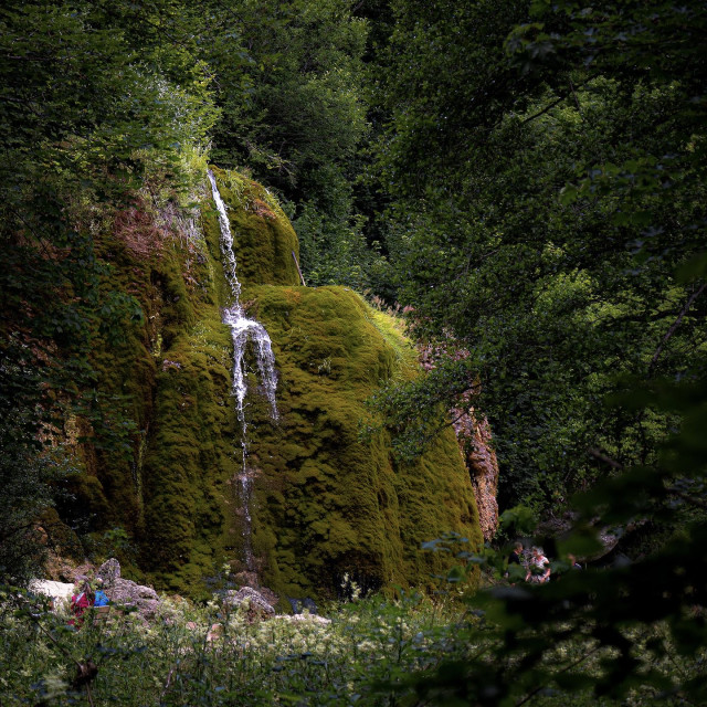
M 230 334 L 218 307 L 197 313 L 198 324 L 184 323 L 163 352 L 144 463 L 145 562 L 169 577 L 170 589 L 192 591 L 240 537 L 230 481 L 240 441 Z

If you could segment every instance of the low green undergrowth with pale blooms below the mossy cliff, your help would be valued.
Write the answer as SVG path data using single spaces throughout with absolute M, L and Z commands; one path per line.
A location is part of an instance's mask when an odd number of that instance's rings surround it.
M 306 616 L 252 622 L 244 606 L 166 598 L 149 623 L 114 606 L 107 620 L 89 616 L 76 631 L 66 625 L 65 608 L 49 611 L 44 598 L 14 588 L 0 592 L 3 707 L 461 705 L 467 703 L 450 701 L 449 693 L 435 699 L 428 692 L 422 698 L 409 678 L 442 663 L 484 659 L 497 641 L 483 614 L 452 594 L 333 604 L 326 612 L 330 623 Z M 644 640 L 662 633 L 656 625 Z M 666 655 L 664 665 L 652 668 L 671 671 L 673 661 Z M 585 680 L 587 690 L 572 695 L 576 707 L 643 705 L 656 697 L 636 689 L 622 703 L 598 699 L 591 684 L 601 675 L 602 654 L 581 636 L 558 645 L 546 663 L 558 678 L 569 677 L 564 666 L 581 663 L 577 678 Z M 689 665 L 683 663 L 683 669 Z M 550 682 L 502 704 L 551 707 L 566 699 Z

